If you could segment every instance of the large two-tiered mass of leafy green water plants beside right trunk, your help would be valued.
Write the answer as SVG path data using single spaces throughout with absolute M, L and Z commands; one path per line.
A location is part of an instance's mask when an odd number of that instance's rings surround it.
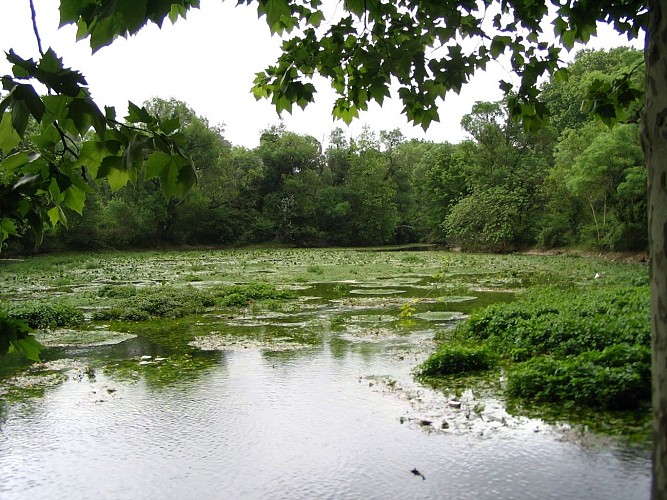
M 456 335 L 518 362 L 514 396 L 614 409 L 650 398 L 646 287 L 533 289 L 474 312 Z

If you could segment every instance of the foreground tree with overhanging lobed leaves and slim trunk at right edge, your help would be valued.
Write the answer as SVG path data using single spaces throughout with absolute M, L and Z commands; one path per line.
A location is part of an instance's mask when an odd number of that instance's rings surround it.
M 642 138 L 653 266 L 653 494 L 666 498 L 667 42 L 660 36 L 667 31 L 664 2 L 346 0 L 332 15 L 321 0 L 239 3 L 254 5 L 273 32 L 288 34 L 276 64 L 257 75 L 255 96 L 271 99 L 278 112 L 290 111 L 294 104 L 304 107 L 316 91 L 311 78 L 319 74 L 339 94 L 334 116 L 347 122 L 369 102 L 382 104 L 396 84 L 405 115 L 428 127 L 439 119 L 440 100 L 447 92 L 459 92 L 491 60 L 507 57 L 519 78 L 517 85 L 500 84 L 509 115 L 521 118 L 525 129 L 533 131 L 549 114 L 539 99 L 540 78 L 558 81 L 569 76 L 563 49 L 587 42 L 598 23 L 612 25 L 629 38 L 647 34 Z M 199 1 L 61 0 L 60 6 L 61 24 L 76 24 L 77 36 L 88 37 L 94 52 L 149 22 L 160 26 L 167 18 L 185 17 Z M 1 78 L 0 239 L 16 234 L 23 224 L 39 234 L 45 220 L 66 223 L 63 208 L 83 208 L 89 178 L 105 178 L 114 190 L 141 176 L 157 178 L 167 199 L 182 196 L 194 185 L 195 170 L 184 154 L 178 120 L 156 118 L 131 104 L 121 122 L 113 109 L 102 111 L 90 98 L 83 75 L 65 68 L 51 49 L 40 52 L 34 61 L 9 49 L 12 74 Z M 628 108 L 643 95 L 633 80 L 639 66 L 611 78 L 594 78 L 585 94 L 585 109 L 609 125 L 625 121 Z M 47 95 L 40 95 L 38 84 Z M 377 206 L 379 201 L 368 203 Z

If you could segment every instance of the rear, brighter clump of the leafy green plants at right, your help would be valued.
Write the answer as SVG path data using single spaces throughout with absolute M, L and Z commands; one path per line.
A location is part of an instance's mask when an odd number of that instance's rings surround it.
M 474 312 L 457 335 L 482 340 L 515 361 L 565 357 L 616 344 L 650 345 L 648 289 L 534 289 Z

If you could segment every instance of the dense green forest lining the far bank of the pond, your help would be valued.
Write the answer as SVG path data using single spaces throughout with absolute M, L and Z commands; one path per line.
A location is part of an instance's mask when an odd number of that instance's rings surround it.
M 528 132 L 508 118 L 506 102 L 480 100 L 461 122 L 469 139 L 459 144 L 407 140 L 399 130 L 348 138 L 335 129 L 323 148 L 273 126 L 247 149 L 186 103 L 155 98 L 145 103 L 149 111 L 181 120 L 197 189 L 165 203 L 155 179 L 139 176 L 116 192 L 92 183 L 83 216 L 67 212 L 68 228 L 51 229 L 42 249 L 428 242 L 644 250 L 640 110 L 610 129 L 590 117 L 604 104 L 587 95 L 591 82 L 603 88 L 619 74 L 640 82 L 642 65 L 638 50 L 583 50 L 567 80 L 540 89 L 549 127 Z M 29 252 L 34 242 L 26 231 L 8 246 Z

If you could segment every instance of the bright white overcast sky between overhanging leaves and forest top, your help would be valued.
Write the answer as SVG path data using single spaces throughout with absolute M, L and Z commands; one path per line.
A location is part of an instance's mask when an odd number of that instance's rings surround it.
M 87 40 L 75 43 L 73 26 L 57 29 L 58 0 L 36 0 L 35 4 L 44 50 L 52 47 L 66 66 L 82 72 L 97 104 L 115 106 L 119 117 L 125 116 L 128 100 L 141 104 L 151 97 L 174 97 L 208 118 L 211 125 L 224 124 L 225 137 L 232 144 L 250 148 L 259 144 L 261 130 L 280 121 L 270 102 L 256 101 L 250 91 L 255 73 L 276 60 L 280 47 L 280 39 L 270 36 L 264 19 L 257 19 L 255 7 L 236 7 L 230 0 L 202 0 L 201 8 L 191 11 L 187 20 L 175 25 L 167 20 L 161 30 L 147 26 L 129 40 L 119 38 L 91 56 Z M 5 5 L 0 49 L 14 48 L 20 57 L 37 59 L 31 23 L 28 0 L 11 0 Z M 588 47 L 627 44 L 609 28 L 599 31 Z M 9 63 L 2 58 L 0 74 L 9 71 Z M 398 99 L 385 100 L 382 108 L 370 105 L 350 127 L 334 121 L 335 96 L 326 81 L 315 82 L 315 103 L 305 111 L 295 106 L 292 115 L 283 114 L 283 121 L 288 130 L 310 134 L 323 143 L 337 126 L 355 137 L 364 124 L 374 131 L 400 128 L 409 138 L 458 142 L 465 137 L 461 117 L 472 104 L 502 97 L 500 79 L 511 81 L 512 77 L 503 65 L 493 63 L 460 95 L 449 94 L 440 108 L 440 123 L 432 124 L 427 133 L 407 122 Z

